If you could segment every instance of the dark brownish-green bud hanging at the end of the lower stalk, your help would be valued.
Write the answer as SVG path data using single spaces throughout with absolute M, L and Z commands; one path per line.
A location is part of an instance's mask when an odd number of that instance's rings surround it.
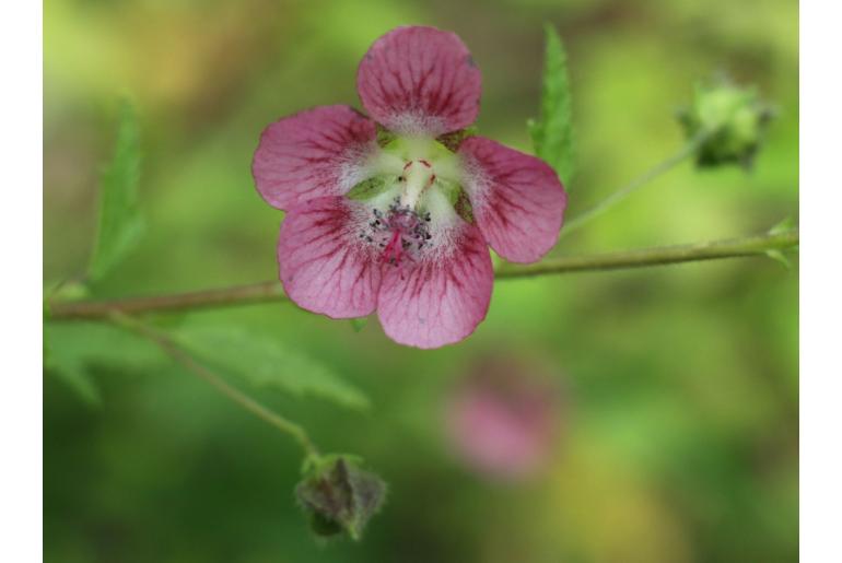
M 381 508 L 386 483 L 374 473 L 360 469 L 355 456 L 309 457 L 304 462 L 304 479 L 295 496 L 309 516 L 311 528 L 318 536 L 343 531 L 359 540 L 362 530 Z

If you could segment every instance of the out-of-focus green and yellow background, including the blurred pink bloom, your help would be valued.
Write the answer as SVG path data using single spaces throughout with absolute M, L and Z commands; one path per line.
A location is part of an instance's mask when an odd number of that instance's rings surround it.
M 526 151 L 542 24 L 557 25 L 577 133 L 570 214 L 681 145 L 674 115 L 697 81 L 727 72 L 775 105 L 752 171 L 686 163 L 558 254 L 740 236 L 797 218 L 794 0 L 44 7 L 46 285 L 89 261 L 126 95 L 140 115 L 148 234 L 97 295 L 273 279 L 282 213 L 252 181 L 260 131 L 314 105 L 360 107 L 359 59 L 401 24 L 465 40 L 483 73 L 481 133 Z M 86 363 L 87 401 L 44 380 L 45 561 L 797 561 L 797 270 L 765 259 L 500 281 L 475 336 L 428 352 L 393 343 L 375 319 L 356 332 L 282 303 L 162 316 L 247 327 L 370 398 L 348 409 L 249 389 L 389 483 L 360 543 L 314 540 L 286 436 L 142 342 L 56 326 L 54 340 L 104 353 Z M 488 376 L 489 359 L 503 376 Z

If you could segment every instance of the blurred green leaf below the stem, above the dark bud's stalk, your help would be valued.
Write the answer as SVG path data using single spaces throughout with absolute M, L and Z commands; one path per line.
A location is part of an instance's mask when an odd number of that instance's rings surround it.
M 209 366 L 295 396 L 312 395 L 343 407 L 365 409 L 369 399 L 331 370 L 279 339 L 239 327 L 185 327 L 172 333 Z

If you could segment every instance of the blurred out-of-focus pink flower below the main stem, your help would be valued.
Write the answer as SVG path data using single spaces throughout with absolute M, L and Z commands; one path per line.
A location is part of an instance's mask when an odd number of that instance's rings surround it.
M 488 360 L 452 397 L 446 424 L 455 453 L 476 471 L 517 480 L 545 467 L 561 423 L 558 389 L 535 368 Z

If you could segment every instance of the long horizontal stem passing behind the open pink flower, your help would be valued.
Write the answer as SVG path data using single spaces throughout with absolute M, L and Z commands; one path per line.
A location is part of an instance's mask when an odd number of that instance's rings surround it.
M 715 241 L 681 246 L 665 246 L 593 256 L 565 256 L 533 265 L 504 265 L 495 272 L 499 280 L 545 274 L 600 270 L 621 270 L 664 266 L 669 263 L 715 260 L 764 255 L 769 250 L 787 250 L 798 246 L 798 231 Z M 283 288 L 277 281 L 238 285 L 151 297 L 127 297 L 110 301 L 55 302 L 50 304 L 52 319 L 97 319 L 114 313 L 140 314 L 194 310 L 209 307 L 247 305 L 285 301 Z

